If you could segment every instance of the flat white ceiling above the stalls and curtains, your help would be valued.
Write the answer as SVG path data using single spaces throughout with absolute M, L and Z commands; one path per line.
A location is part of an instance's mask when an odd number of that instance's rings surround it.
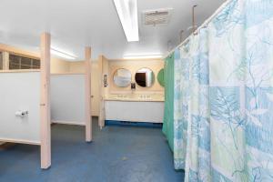
M 91 45 L 93 59 L 124 55 L 167 54 L 179 44 L 179 32 L 187 38 L 192 5 L 197 5 L 197 25 L 201 25 L 225 0 L 137 0 L 139 42 L 128 43 L 113 0 L 1 0 L 0 43 L 31 51 L 39 48 L 39 36 L 49 32 L 52 45 L 84 58 Z M 142 12 L 173 8 L 168 25 L 146 26 Z M 169 45 L 168 45 L 169 42 Z

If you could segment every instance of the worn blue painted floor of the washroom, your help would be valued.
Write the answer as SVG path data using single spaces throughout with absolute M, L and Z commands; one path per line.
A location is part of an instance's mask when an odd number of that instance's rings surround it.
M 52 126 L 52 166 L 40 169 L 39 147 L 0 150 L 2 182 L 182 182 L 160 128 L 106 126 L 94 119 L 93 142 L 83 126 Z

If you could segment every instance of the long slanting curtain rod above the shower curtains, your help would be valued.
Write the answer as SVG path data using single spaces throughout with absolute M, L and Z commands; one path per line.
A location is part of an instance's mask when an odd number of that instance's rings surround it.
M 225 3 L 223 3 L 218 9 L 217 11 L 211 15 L 210 17 L 207 18 L 207 20 L 202 24 L 200 25 L 197 30 L 194 32 L 194 33 L 191 33 L 190 35 L 187 36 L 187 38 L 182 42 L 180 43 L 179 45 L 177 45 L 174 49 L 172 49 L 170 52 L 167 53 L 167 56 L 170 56 L 172 53 L 175 52 L 175 50 L 177 49 L 177 47 L 180 47 L 182 45 L 185 45 L 187 43 L 187 41 L 189 40 L 189 38 L 191 37 L 191 35 L 195 35 L 198 33 L 198 31 L 203 28 L 203 27 L 206 27 L 210 22 L 211 20 L 217 16 L 229 3 L 231 3 L 231 1 L 234 1 L 234 0 L 227 0 Z M 167 58 L 167 56 L 164 56 L 165 58 Z

